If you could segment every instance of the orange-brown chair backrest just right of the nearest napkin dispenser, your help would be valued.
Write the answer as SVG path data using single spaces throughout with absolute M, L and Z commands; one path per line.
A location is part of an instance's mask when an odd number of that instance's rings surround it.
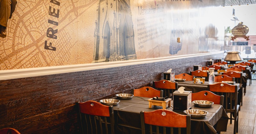
M 219 104 L 223 106 L 224 96 L 216 95 L 210 91 L 200 91 L 197 93 L 192 93 L 191 101 L 194 100 L 212 101 L 214 104 Z

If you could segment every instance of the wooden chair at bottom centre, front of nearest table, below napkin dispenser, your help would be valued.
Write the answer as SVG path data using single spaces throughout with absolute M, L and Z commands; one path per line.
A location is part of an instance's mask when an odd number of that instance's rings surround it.
M 141 111 L 140 121 L 142 134 L 147 133 L 148 130 L 150 131 L 151 134 L 159 134 L 159 132 L 163 134 L 173 133 L 173 131 L 176 131 L 175 129 L 178 129 L 179 134 L 190 134 L 191 130 L 190 115 L 181 115 L 166 109 L 157 109 L 151 112 Z M 156 127 L 156 132 L 153 132 L 153 130 L 155 129 L 152 128 L 154 127 Z M 181 130 L 181 128 L 186 128 L 186 132 Z

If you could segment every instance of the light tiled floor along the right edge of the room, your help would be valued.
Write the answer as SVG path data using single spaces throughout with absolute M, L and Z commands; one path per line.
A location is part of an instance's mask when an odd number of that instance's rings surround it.
M 247 84 L 243 106 L 239 111 L 238 134 L 256 134 L 256 80 L 252 80 L 251 86 L 249 86 L 249 80 Z M 228 121 L 227 132 L 221 132 L 221 134 L 233 134 L 233 128 L 234 121 L 232 124 Z

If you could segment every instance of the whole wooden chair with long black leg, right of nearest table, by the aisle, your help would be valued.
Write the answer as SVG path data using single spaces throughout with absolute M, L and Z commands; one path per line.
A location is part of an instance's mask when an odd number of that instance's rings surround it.
M 230 124 L 232 124 L 232 120 L 234 120 L 234 134 L 236 134 L 236 132 L 238 132 L 238 113 L 240 107 L 240 105 L 237 104 L 237 86 L 220 82 L 209 84 L 208 89 L 211 92 L 220 93 L 225 96 L 224 109 L 227 113 L 230 113 Z M 234 100 L 232 100 L 232 96 L 234 97 Z M 232 115 L 234 118 L 232 118 Z

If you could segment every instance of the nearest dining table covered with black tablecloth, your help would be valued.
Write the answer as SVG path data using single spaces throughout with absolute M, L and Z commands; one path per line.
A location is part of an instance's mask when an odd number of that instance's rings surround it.
M 117 99 L 116 97 L 112 99 Z M 161 109 L 160 106 L 149 108 L 147 97 L 133 96 L 132 99 L 121 100 L 118 105 L 113 106 L 115 116 L 116 133 L 137 134 L 141 133 L 140 111 L 153 111 Z M 166 108 L 173 109 L 173 103 Z M 200 108 L 191 103 L 192 109 L 205 110 L 208 114 L 204 118 L 191 118 L 191 134 L 216 134 L 217 131 L 226 131 L 228 115 L 222 105 L 213 104 L 212 107 Z M 184 114 L 180 111 L 175 111 Z M 159 121 L 161 122 L 161 121 Z

